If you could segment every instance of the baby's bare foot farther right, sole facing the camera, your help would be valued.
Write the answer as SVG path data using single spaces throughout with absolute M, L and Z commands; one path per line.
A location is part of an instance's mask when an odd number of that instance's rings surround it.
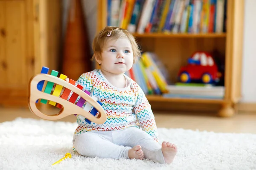
M 170 142 L 163 142 L 162 143 L 162 152 L 163 152 L 163 157 L 164 161 L 166 164 L 172 163 L 176 153 L 177 153 L 177 147 L 175 144 L 172 144 Z

